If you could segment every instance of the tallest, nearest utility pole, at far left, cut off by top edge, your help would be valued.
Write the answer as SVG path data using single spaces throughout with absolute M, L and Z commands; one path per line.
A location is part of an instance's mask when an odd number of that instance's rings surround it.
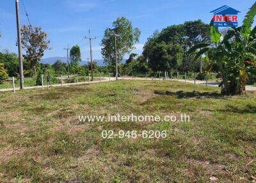
M 24 75 L 23 75 L 22 47 L 21 47 L 21 40 L 20 40 L 19 0 L 16 0 L 15 4 L 16 4 L 17 38 L 18 38 L 18 50 L 19 50 L 20 90 L 22 90 L 24 89 Z

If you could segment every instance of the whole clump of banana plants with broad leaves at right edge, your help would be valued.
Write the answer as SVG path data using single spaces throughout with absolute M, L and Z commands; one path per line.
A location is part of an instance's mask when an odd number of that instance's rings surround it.
M 211 58 L 212 63 L 217 63 L 222 82 L 221 92 L 223 94 L 244 94 L 249 67 L 256 66 L 256 27 L 252 29 L 256 15 L 256 3 L 253 4 L 243 25 L 239 28 L 232 28 L 222 38 L 218 28 L 213 26 L 211 21 L 211 44 L 198 44 L 189 49 L 188 54 L 196 52 L 195 59 L 205 54 Z

